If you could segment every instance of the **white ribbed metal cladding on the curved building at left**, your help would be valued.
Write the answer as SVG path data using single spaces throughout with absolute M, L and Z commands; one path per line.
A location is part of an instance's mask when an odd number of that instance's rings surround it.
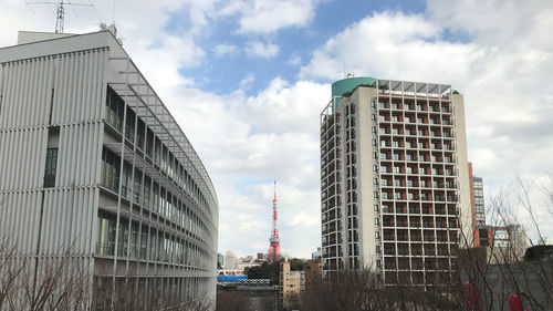
M 197 287 L 196 292 L 215 296 L 218 203 L 213 185 L 194 147 L 145 77 L 118 43 L 109 43 L 116 42 L 111 33 L 102 35 L 105 38 L 100 38 L 98 33 L 90 35 L 91 40 L 100 42 L 100 48 L 86 43 L 88 37 L 79 39 L 76 35 L 0 49 L 0 201 L 3 203 L 0 205 L 0 230 L 12 232 L 18 248 L 24 255 L 41 258 L 41 265 L 43 259 L 60 257 L 60 251 L 67 247 L 73 258 L 86 265 L 106 260 L 95 256 L 102 198 L 97 186 L 102 148 L 114 149 L 137 168 L 140 165 L 125 143 L 104 141 L 107 137 L 104 132 L 105 99 L 109 84 L 181 160 L 204 193 L 207 207 L 199 205 L 190 193 L 179 190 L 163 173 L 148 172 L 158 174 L 156 178 L 167 179 L 163 182 L 164 187 L 178 196 L 196 219 L 201 219 L 211 238 L 198 237 L 201 230 L 190 226 L 186 235 L 184 229 L 178 232 L 160 217 L 146 218 L 142 208 L 137 214 L 136 206 L 133 212 L 121 204 L 107 209 L 112 214 L 116 210 L 121 219 L 134 219 L 188 242 L 189 262 L 181 266 L 140 262 L 139 267 L 146 267 L 143 277 L 201 278 L 190 279 Z M 71 51 L 70 43 L 86 45 L 86 49 Z M 63 52 L 38 54 L 55 51 L 56 46 Z M 49 128 L 52 126 L 58 128 L 59 148 L 55 187 L 43 188 Z M 117 226 L 121 229 L 121 225 Z M 114 265 L 109 270 L 112 277 L 115 271 L 127 273 L 129 265 L 137 262 L 121 256 L 108 260 Z

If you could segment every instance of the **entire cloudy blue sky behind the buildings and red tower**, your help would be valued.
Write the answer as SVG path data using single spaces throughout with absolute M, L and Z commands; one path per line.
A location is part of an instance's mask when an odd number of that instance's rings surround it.
M 115 22 L 201 157 L 219 199 L 219 252 L 267 252 L 274 178 L 282 252 L 309 258 L 321 245 L 319 117 L 344 73 L 450 83 L 465 95 L 468 155 L 487 195 L 510 193 L 517 176 L 532 194 L 553 184 L 551 0 L 73 2 L 94 7 L 67 8 L 65 32 Z M 18 30 L 54 30 L 52 4 L 0 8 L 0 46 Z M 549 215 L 543 197 L 533 201 Z M 550 220 L 538 217 L 553 235 Z

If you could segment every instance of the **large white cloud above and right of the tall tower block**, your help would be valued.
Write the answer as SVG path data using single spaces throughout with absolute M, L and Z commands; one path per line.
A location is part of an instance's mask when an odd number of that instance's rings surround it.
M 539 0 L 374 13 L 316 49 L 300 77 L 342 79 L 345 60 L 357 76 L 451 83 L 465 94 L 469 158 L 497 190 L 515 172 L 539 178 L 553 167 L 552 15 L 553 2 Z

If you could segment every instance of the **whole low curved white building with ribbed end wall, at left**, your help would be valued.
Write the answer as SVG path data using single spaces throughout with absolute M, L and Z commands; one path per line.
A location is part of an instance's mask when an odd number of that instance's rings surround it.
M 213 300 L 213 185 L 114 28 L 20 32 L 0 63 L 0 232 L 18 253 L 94 271 L 90 310 Z

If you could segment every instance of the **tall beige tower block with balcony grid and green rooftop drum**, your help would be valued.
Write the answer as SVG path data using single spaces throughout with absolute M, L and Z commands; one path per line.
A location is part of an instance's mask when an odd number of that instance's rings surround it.
M 323 276 L 448 278 L 460 222 L 471 236 L 462 95 L 438 83 L 335 82 L 321 114 L 321 188 Z

